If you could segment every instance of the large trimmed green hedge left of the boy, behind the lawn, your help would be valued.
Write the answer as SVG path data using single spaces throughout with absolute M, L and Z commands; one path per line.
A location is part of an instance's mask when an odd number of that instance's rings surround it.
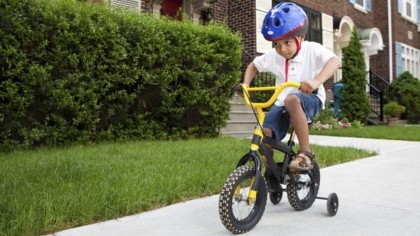
M 0 149 L 218 135 L 240 77 L 226 26 L 0 0 Z

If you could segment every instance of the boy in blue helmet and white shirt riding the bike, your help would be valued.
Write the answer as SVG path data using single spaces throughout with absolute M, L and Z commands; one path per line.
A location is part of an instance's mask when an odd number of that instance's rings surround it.
M 256 57 L 243 79 L 243 84 L 249 86 L 259 71 L 272 72 L 276 85 L 285 81 L 301 83 L 300 91 L 285 88 L 280 93 L 263 124 L 263 133 L 280 142 L 292 122 L 300 150 L 289 168 L 297 171 L 313 167 L 315 155 L 309 147 L 308 121 L 324 108 L 323 83 L 341 66 L 333 52 L 318 43 L 304 41 L 307 30 L 308 18 L 299 6 L 283 2 L 273 7 L 264 18 L 261 32 L 266 40 L 274 42 L 274 48 Z M 318 93 L 312 94 L 315 89 Z

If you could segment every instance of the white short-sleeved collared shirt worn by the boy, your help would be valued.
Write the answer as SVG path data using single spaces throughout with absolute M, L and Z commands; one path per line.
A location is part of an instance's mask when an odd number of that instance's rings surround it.
M 302 82 L 304 80 L 314 79 L 327 61 L 334 56 L 335 54 L 331 50 L 328 50 L 319 43 L 308 41 L 302 42 L 298 55 L 289 60 L 287 80 Z M 278 54 L 275 48 L 256 57 L 253 63 L 259 72 L 273 73 L 276 76 L 276 86 L 279 86 L 286 81 L 286 59 Z M 324 107 L 325 88 L 321 85 L 318 89 L 318 97 L 322 101 Z M 277 97 L 275 104 L 277 106 L 283 106 L 286 96 L 297 92 L 298 90 L 296 88 L 286 87 Z

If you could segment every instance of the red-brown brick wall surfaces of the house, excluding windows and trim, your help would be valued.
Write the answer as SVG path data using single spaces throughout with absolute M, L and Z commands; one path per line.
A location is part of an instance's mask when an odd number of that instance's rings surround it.
M 417 4 L 419 3 L 418 0 Z M 152 0 L 141 1 L 142 9 L 150 12 Z M 382 35 L 384 49 L 377 55 L 370 57 L 370 69 L 385 80 L 389 79 L 389 47 L 392 47 L 393 77 L 396 77 L 396 42 L 400 42 L 416 49 L 420 49 L 420 32 L 418 24 L 408 21 L 399 13 L 399 0 L 391 0 L 392 4 L 392 45 L 388 38 L 388 6 L 386 0 L 370 0 L 367 2 L 367 10 L 362 11 L 355 7 L 353 0 L 294 0 L 305 8 L 319 11 L 333 17 L 334 29 L 338 27 L 340 19 L 350 17 L 358 29 L 376 27 Z M 419 6 L 417 6 L 419 8 Z M 244 48 L 243 64 L 246 65 L 257 56 L 257 33 L 256 29 L 256 0 L 219 0 L 210 6 L 214 20 L 226 22 L 234 32 L 242 35 Z M 419 18 L 419 16 L 417 16 Z M 409 38 L 411 32 L 412 38 Z M 398 62 L 399 63 L 399 62 Z M 326 87 L 332 86 L 333 81 L 328 81 Z

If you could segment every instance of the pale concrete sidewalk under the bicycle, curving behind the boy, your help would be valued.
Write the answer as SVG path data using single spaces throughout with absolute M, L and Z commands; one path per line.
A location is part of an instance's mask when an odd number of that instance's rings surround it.
M 321 169 L 319 196 L 338 194 L 335 217 L 326 201 L 295 211 L 286 194 L 268 200 L 247 235 L 419 235 L 420 142 L 311 136 L 311 143 L 374 150 L 378 156 Z M 220 186 L 222 187 L 222 186 Z M 54 233 L 55 236 L 231 235 L 218 213 L 218 195 Z

